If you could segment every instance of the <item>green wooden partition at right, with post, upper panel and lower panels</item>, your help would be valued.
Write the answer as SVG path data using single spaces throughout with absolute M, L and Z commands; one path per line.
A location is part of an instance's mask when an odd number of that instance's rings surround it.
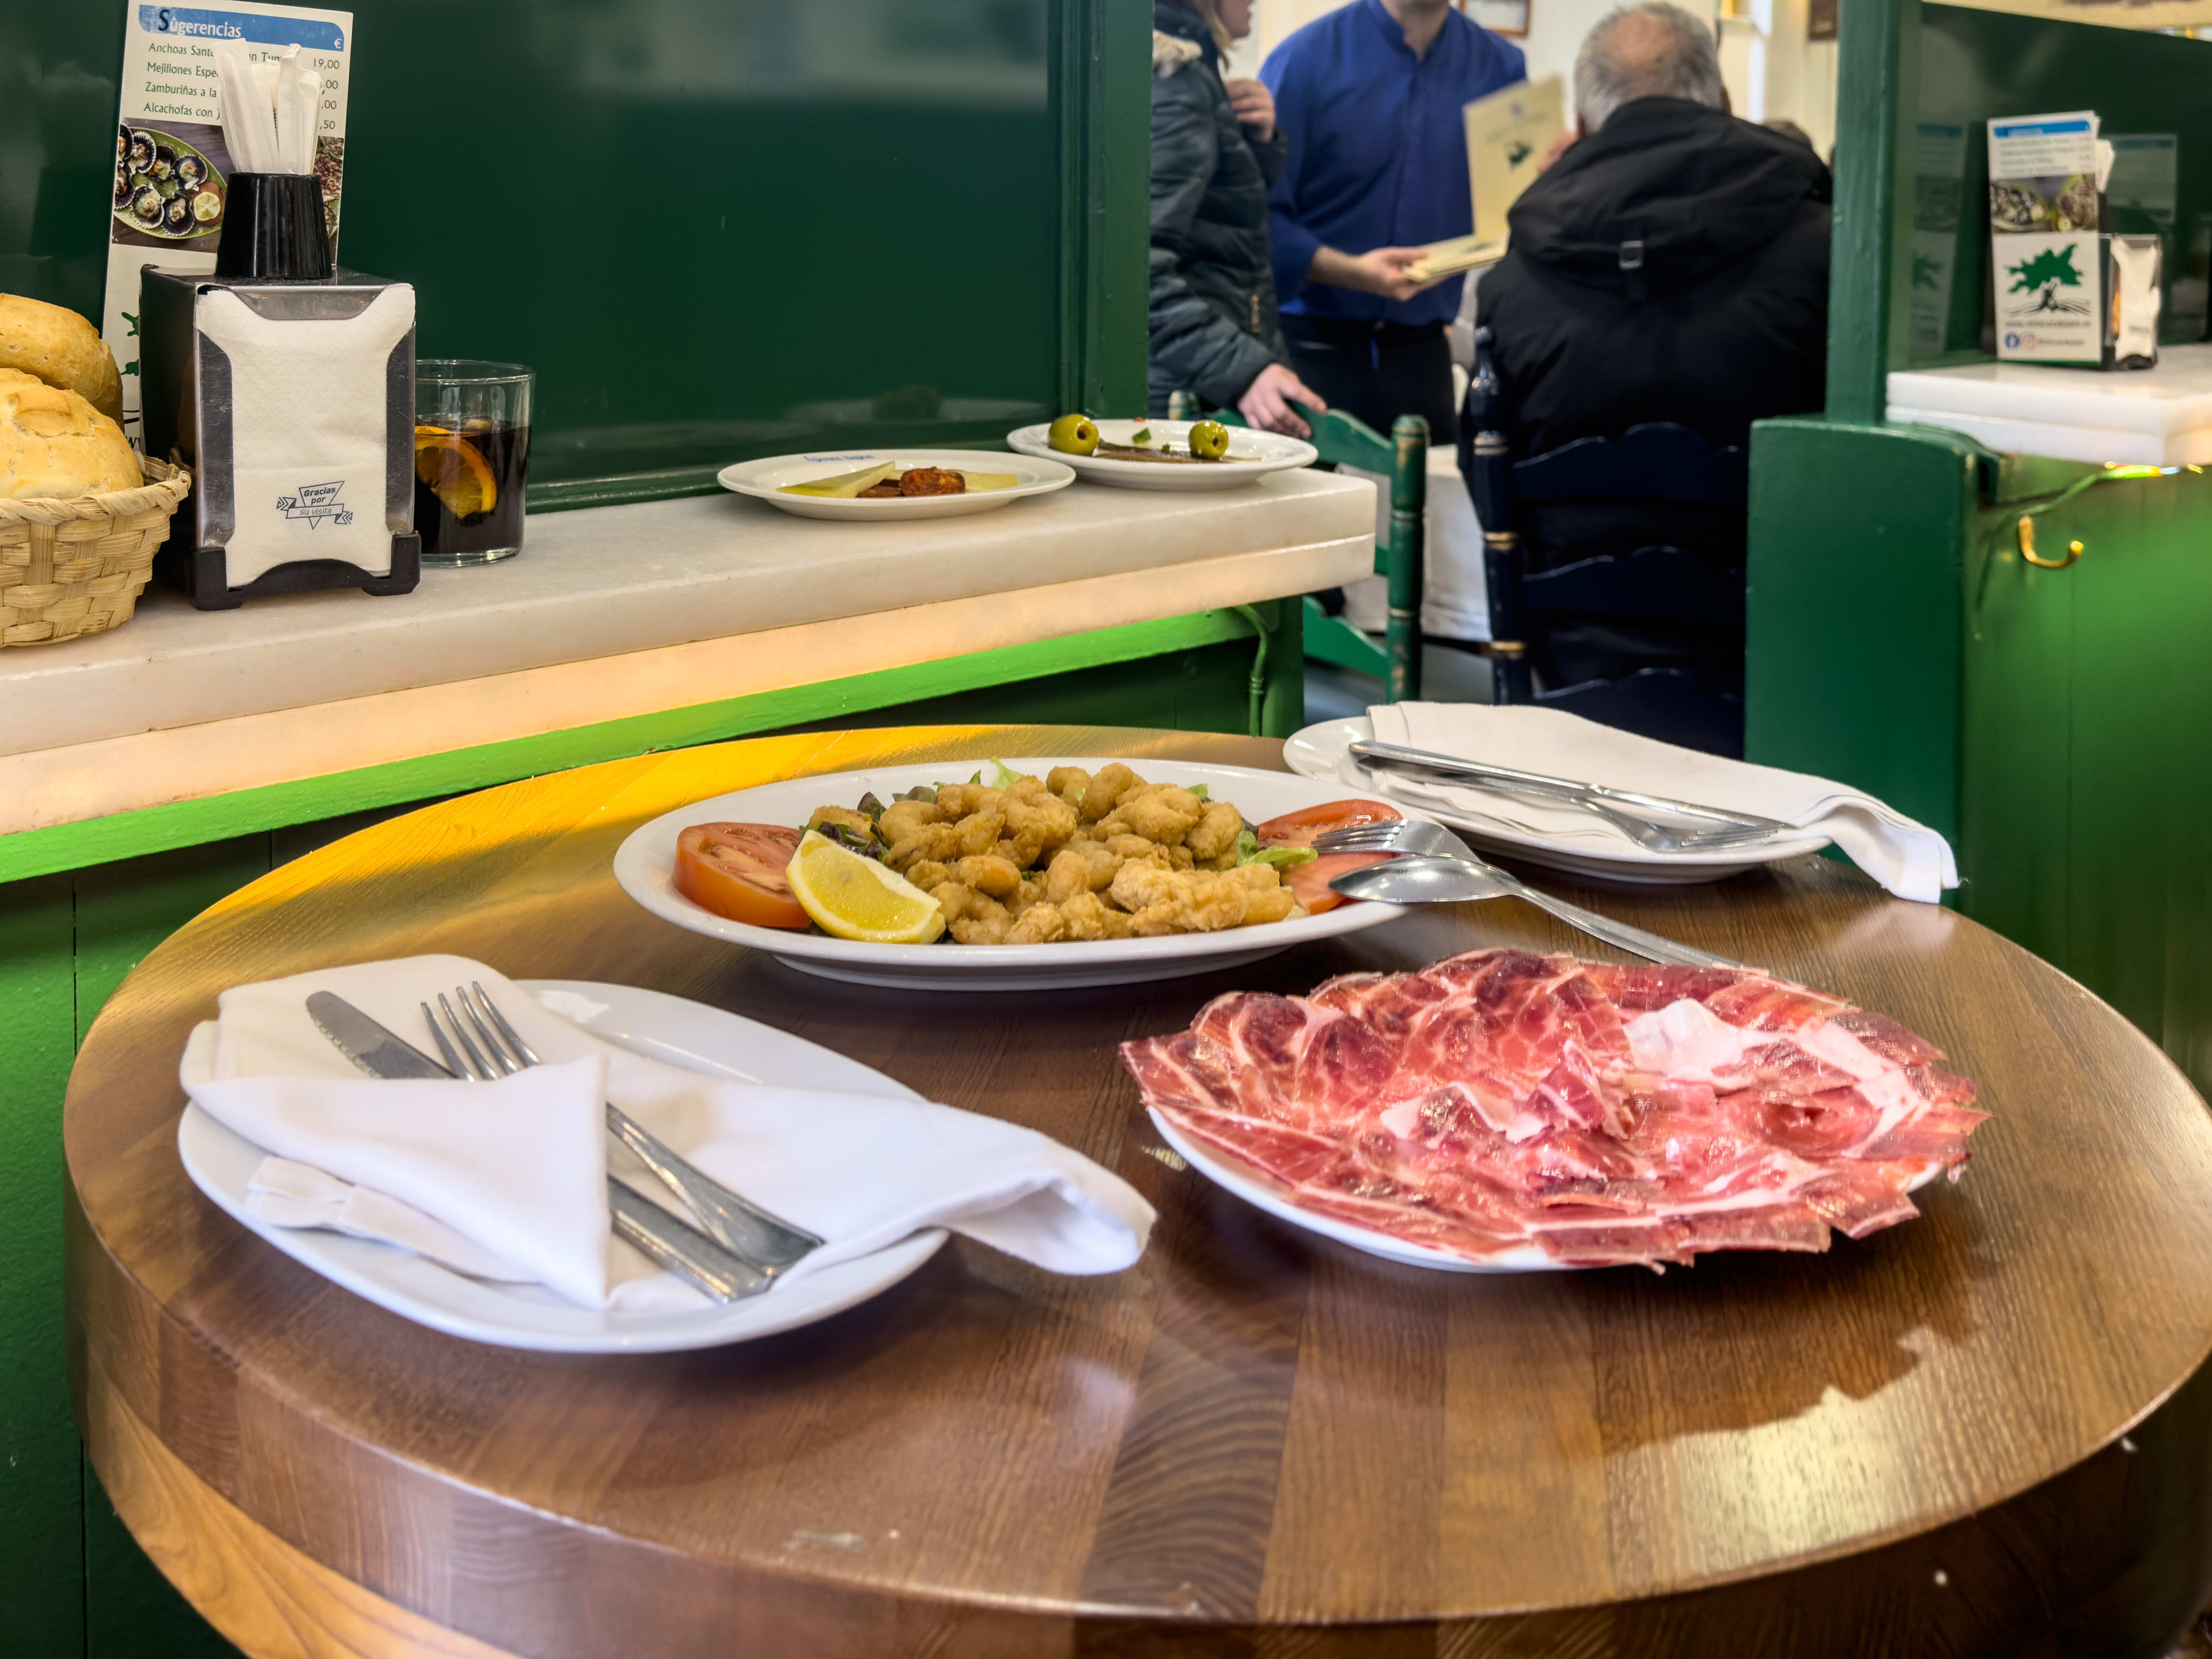
M 1838 53 L 1827 418 L 1752 434 L 1745 752 L 1942 830 L 1958 909 L 2212 1091 L 2212 478 L 1882 420 L 1893 369 L 1991 354 L 1989 117 L 2174 139 L 2161 334 L 2203 336 L 2212 42 L 1843 0 Z

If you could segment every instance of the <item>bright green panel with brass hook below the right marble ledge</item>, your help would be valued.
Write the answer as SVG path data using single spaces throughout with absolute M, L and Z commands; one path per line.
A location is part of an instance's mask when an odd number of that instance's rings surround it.
M 2097 484 L 2033 520 L 1997 467 L 1966 562 L 1962 907 L 2212 1088 L 2212 478 Z M 2073 549 L 2079 546 L 2079 555 Z

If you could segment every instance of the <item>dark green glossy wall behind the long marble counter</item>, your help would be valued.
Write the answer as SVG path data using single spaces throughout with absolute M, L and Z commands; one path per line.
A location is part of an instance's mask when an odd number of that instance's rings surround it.
M 338 254 L 538 369 L 533 482 L 1144 396 L 1150 9 L 354 0 Z M 97 316 L 124 0 L 0 0 L 0 292 Z

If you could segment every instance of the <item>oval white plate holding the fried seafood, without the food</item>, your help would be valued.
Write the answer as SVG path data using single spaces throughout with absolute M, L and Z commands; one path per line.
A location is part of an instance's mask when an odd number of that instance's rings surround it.
M 1097 772 L 1113 765 L 1099 757 L 1031 757 L 1009 754 L 1015 772 L 1044 776 L 1055 765 L 1079 765 Z M 615 852 L 615 880 L 622 891 L 661 920 L 688 927 L 692 933 L 750 945 L 781 962 L 856 984 L 894 984 L 907 991 L 1055 991 L 1075 984 L 1130 984 L 1168 980 L 1181 973 L 1212 973 L 1241 967 L 1263 956 L 1287 951 L 1316 938 L 1358 933 L 1405 914 L 1402 905 L 1338 905 L 1321 916 L 1287 922 L 1232 927 L 1221 933 L 1177 933 L 1172 938 L 1115 938 L 1088 945 L 856 945 L 827 933 L 799 933 L 781 927 L 748 927 L 701 909 L 675 889 L 677 836 L 695 823 L 783 823 L 803 825 L 814 807 L 858 805 L 874 792 L 889 801 L 920 783 L 960 783 L 975 772 L 975 761 L 927 761 L 920 765 L 878 765 L 867 772 L 830 772 L 823 776 L 763 783 L 754 790 L 717 794 L 688 807 L 664 812 L 639 825 Z M 1334 783 L 1323 787 L 1287 772 L 1256 772 L 1243 765 L 1203 765 L 1197 761 L 1144 761 L 1124 757 L 1124 765 L 1152 783 L 1203 783 L 1214 801 L 1234 803 L 1248 823 L 1265 823 L 1283 812 L 1340 801 L 1349 792 Z M 991 763 L 982 770 L 989 774 Z

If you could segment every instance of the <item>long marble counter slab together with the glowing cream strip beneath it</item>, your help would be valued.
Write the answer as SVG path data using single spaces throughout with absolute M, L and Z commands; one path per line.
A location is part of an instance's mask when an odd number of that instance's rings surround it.
M 1097 489 L 834 524 L 739 495 L 529 520 L 409 595 L 192 611 L 0 653 L 0 834 L 1356 582 L 1360 478 Z

